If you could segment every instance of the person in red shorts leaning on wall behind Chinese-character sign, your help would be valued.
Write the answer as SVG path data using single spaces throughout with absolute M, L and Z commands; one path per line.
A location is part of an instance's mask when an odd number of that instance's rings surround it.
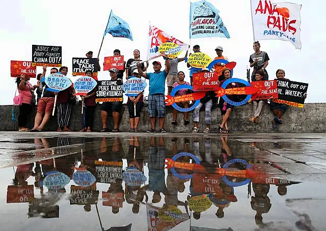
M 45 84 L 45 73 L 47 66 L 43 66 L 43 73 L 41 75 L 41 84 L 44 88 L 43 96 L 37 104 L 37 113 L 35 116 L 34 127 L 31 132 L 40 132 L 44 130 L 46 123 L 49 121 L 53 106 L 55 104 L 55 95 L 58 93 L 51 92 L 47 90 L 47 85 Z M 51 68 L 50 74 L 58 73 L 57 68 Z M 44 115 L 44 118 L 43 118 Z

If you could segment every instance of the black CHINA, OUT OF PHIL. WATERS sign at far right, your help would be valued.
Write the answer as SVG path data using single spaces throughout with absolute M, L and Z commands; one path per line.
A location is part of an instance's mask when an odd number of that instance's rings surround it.
M 281 79 L 277 79 L 276 81 L 279 98 L 273 99 L 274 102 L 294 107 L 304 107 L 304 95 L 307 93 L 308 83 Z

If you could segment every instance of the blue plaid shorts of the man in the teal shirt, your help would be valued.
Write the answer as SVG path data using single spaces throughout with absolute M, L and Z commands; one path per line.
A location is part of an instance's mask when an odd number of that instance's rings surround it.
M 148 96 L 149 117 L 165 118 L 164 94 L 152 94 Z

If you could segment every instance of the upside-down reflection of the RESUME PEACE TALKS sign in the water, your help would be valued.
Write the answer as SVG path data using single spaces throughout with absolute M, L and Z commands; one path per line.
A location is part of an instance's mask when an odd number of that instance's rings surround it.
M 97 182 L 112 184 L 122 179 L 122 162 L 95 160 L 95 164 Z

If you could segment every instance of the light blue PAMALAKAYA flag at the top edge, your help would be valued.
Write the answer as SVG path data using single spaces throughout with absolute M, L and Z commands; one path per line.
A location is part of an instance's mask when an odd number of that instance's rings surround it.
M 219 13 L 218 9 L 205 0 L 191 3 L 189 38 L 224 37 L 229 39 L 229 32 Z

